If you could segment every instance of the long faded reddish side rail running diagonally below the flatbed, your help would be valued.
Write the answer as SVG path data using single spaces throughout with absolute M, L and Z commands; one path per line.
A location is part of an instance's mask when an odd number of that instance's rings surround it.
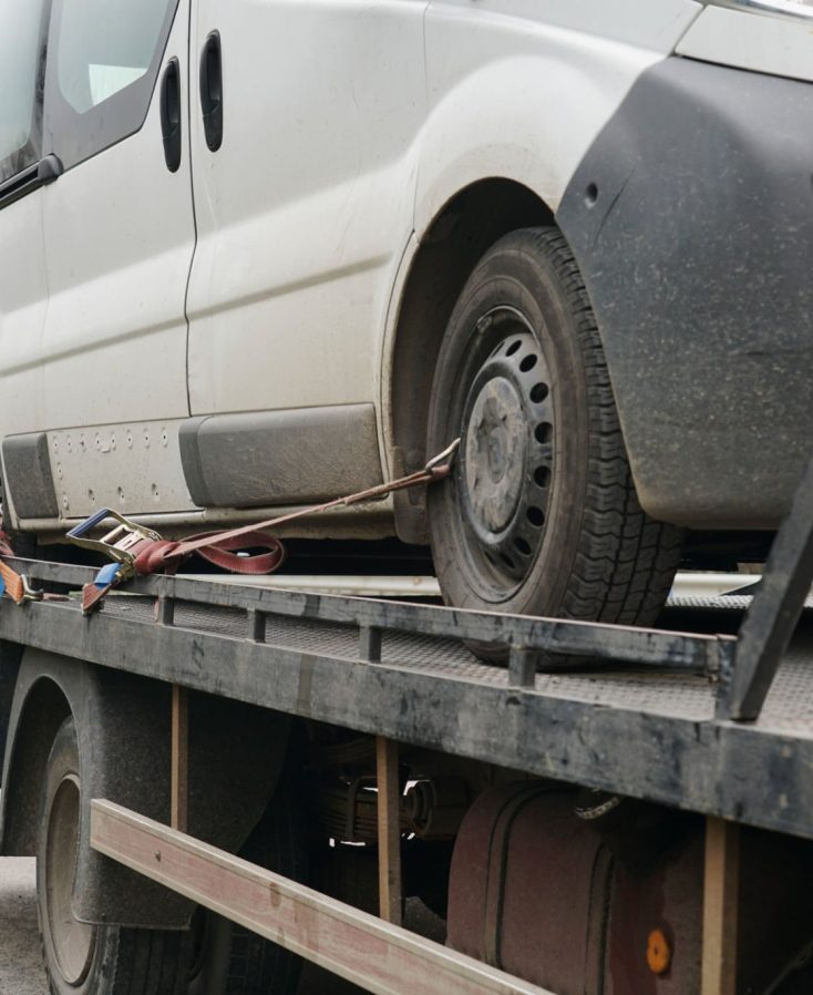
M 553 995 L 109 801 L 91 847 L 377 995 Z

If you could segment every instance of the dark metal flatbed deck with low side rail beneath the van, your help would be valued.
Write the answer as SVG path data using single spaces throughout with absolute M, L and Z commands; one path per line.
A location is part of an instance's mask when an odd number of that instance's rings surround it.
M 12 565 L 63 591 L 95 574 Z M 813 612 L 759 719 L 716 717 L 749 601 L 678 602 L 663 625 L 693 630 L 672 633 L 177 576 L 136 581 L 90 617 L 75 598 L 3 599 L 0 630 L 181 687 L 813 839 Z M 472 638 L 513 645 L 511 665 L 477 659 Z M 600 655 L 603 666 L 535 673 L 541 647 Z

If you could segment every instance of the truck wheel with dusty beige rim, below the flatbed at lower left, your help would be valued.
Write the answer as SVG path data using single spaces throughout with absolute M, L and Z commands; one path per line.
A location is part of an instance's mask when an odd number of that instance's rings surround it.
M 76 730 L 68 718 L 48 759 L 37 849 L 40 938 L 52 995 L 178 995 L 186 979 L 184 934 L 90 926 L 74 919 L 80 811 Z

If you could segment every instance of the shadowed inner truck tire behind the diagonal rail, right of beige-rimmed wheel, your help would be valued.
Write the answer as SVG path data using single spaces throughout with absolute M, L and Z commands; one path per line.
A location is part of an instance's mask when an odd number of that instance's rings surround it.
M 240 856 L 295 881 L 308 876 L 301 817 L 275 798 Z M 187 995 L 294 995 L 302 958 L 237 923 L 198 909 Z

